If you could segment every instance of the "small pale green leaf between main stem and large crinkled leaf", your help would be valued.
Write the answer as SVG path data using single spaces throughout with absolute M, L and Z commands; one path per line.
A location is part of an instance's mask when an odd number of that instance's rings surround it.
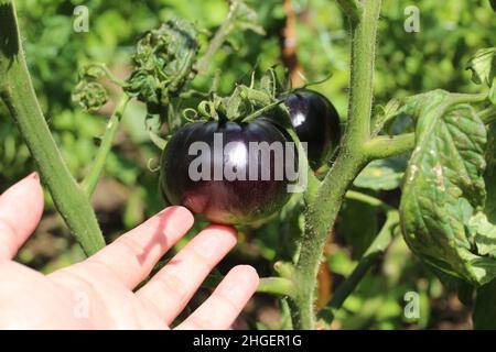
M 374 190 L 396 189 L 401 186 L 406 167 L 405 156 L 374 161 L 358 175 L 354 185 Z

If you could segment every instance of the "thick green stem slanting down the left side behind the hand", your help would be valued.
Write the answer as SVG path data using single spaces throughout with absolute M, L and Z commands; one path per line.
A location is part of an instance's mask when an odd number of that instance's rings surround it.
M 0 3 L 0 97 L 64 221 L 87 255 L 97 252 L 105 245 L 104 237 L 91 205 L 64 163 L 36 100 L 10 0 Z

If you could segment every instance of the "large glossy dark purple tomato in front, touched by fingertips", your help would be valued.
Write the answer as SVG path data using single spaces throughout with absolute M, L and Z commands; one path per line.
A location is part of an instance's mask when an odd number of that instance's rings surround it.
M 265 118 L 186 124 L 163 151 L 162 195 L 171 205 L 182 205 L 215 223 L 266 219 L 291 195 L 287 186 L 294 178 L 285 172 L 281 177 L 281 167 L 296 157 L 285 151 L 287 142 L 282 131 Z M 282 153 L 277 145 L 282 145 Z M 296 170 L 298 162 L 292 166 Z

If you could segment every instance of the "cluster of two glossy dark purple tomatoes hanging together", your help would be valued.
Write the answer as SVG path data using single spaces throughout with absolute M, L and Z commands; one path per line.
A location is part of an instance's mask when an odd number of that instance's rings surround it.
M 291 94 L 285 106 L 298 136 L 308 142 L 310 166 L 319 168 L 339 141 L 335 108 L 311 90 Z M 162 154 L 164 199 L 215 223 L 250 223 L 278 212 L 291 196 L 288 186 L 295 179 L 289 178 L 287 164 L 298 172 L 298 153 L 294 148 L 288 154 L 285 146 L 292 141 L 277 118 L 281 117 L 193 122 L 181 128 Z M 265 143 L 266 157 L 260 151 L 251 154 L 252 143 Z M 280 155 L 270 148 L 278 143 Z

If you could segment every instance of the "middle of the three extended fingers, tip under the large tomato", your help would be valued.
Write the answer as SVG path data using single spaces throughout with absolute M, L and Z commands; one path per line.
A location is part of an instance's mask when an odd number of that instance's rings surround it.
M 171 323 L 235 244 L 235 229 L 207 227 L 137 293 L 138 297 L 152 305 L 165 323 Z

